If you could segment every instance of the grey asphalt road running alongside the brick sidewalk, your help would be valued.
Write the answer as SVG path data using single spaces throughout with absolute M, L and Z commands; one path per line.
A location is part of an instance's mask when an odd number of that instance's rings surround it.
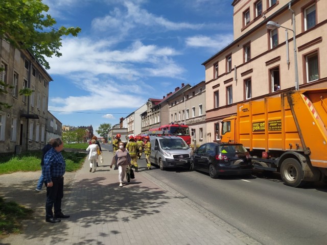
M 140 170 L 146 168 L 144 158 L 138 160 Z M 327 244 L 327 185 L 293 188 L 273 173 L 211 179 L 155 166 L 147 173 L 262 244 Z

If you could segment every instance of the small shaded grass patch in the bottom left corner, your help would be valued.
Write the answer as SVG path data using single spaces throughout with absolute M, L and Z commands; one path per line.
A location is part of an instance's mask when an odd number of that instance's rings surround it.
M 0 197 L 0 237 L 20 233 L 21 221 L 32 218 L 33 210 Z

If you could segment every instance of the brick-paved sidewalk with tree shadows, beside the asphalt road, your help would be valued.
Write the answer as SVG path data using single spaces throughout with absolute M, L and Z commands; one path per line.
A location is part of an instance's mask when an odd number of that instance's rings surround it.
M 235 228 L 235 234 L 227 231 L 229 225 L 156 185 L 146 171 L 119 187 L 118 170 L 108 164 L 112 152 L 103 154 L 95 173 L 88 161 L 76 173 L 62 203 L 70 218 L 58 224 L 42 219 L 33 236 L 11 236 L 2 244 L 260 244 Z

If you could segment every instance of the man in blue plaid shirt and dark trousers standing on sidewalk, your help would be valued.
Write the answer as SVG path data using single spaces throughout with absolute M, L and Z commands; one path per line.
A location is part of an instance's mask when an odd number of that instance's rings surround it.
M 63 142 L 60 138 L 54 139 L 52 148 L 44 156 L 42 173 L 46 185 L 45 221 L 58 223 L 60 218 L 69 218 L 61 212 L 63 198 L 63 176 L 66 171 L 66 162 L 61 155 Z M 52 208 L 54 207 L 53 215 Z

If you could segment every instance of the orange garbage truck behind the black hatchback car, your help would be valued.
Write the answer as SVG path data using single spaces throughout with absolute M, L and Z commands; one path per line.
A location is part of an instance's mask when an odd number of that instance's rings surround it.
M 218 125 L 221 141 L 242 143 L 254 168 L 281 173 L 286 185 L 327 179 L 327 88 L 240 103 Z

